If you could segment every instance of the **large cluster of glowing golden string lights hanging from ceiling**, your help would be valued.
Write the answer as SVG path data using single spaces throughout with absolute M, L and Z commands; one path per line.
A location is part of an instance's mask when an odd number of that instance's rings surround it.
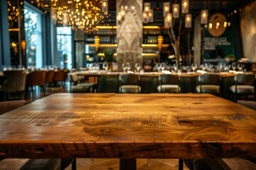
M 104 23 L 107 12 L 102 13 L 100 0 L 51 0 L 51 16 L 53 23 L 58 21 L 62 26 L 71 26 L 73 30 L 96 30 L 95 26 Z

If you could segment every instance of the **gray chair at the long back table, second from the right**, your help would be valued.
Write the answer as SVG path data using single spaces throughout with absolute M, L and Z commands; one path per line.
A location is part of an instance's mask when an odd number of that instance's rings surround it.
M 201 74 L 198 77 L 200 85 L 196 86 L 198 94 L 220 94 L 220 76 L 217 74 Z

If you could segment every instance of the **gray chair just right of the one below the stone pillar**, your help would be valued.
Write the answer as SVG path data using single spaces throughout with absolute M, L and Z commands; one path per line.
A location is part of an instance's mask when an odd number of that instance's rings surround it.
M 178 85 L 179 77 L 171 74 L 160 74 L 160 85 L 157 86 L 159 93 L 179 93 L 181 87 Z

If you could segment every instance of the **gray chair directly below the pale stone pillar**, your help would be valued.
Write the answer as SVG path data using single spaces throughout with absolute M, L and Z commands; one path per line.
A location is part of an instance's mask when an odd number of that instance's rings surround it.
M 120 94 L 139 94 L 142 90 L 139 86 L 140 77 L 137 74 L 120 74 L 119 81 Z

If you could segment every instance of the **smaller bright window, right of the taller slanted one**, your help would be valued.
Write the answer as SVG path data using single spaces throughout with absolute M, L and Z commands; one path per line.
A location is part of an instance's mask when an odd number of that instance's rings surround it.
M 71 27 L 57 27 L 57 49 L 59 67 L 72 69 Z

